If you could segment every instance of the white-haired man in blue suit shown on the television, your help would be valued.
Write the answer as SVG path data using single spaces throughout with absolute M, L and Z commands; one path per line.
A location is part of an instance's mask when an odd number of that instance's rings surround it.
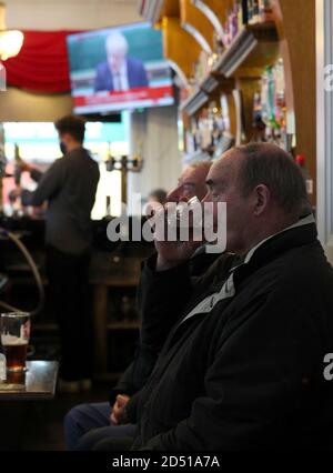
M 97 67 L 94 91 L 125 91 L 148 87 L 148 77 L 140 59 L 129 58 L 129 43 L 125 37 L 112 32 L 105 42 L 107 62 Z

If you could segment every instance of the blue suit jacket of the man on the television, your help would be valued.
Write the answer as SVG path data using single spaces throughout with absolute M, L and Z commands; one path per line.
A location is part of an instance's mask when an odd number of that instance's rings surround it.
M 127 68 L 130 89 L 149 85 L 147 72 L 141 61 L 139 61 L 138 59 L 128 58 Z M 94 79 L 94 91 L 113 91 L 113 89 L 114 85 L 110 67 L 108 62 L 103 62 L 97 68 L 97 74 Z

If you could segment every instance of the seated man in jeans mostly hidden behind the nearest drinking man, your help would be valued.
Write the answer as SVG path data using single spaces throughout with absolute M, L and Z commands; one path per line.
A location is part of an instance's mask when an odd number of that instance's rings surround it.
M 211 162 L 208 161 L 186 167 L 178 180 L 178 185 L 168 194 L 168 201 L 186 201 L 194 195 L 203 199 L 210 168 Z M 189 263 L 191 276 L 196 278 L 204 273 L 218 256 L 216 253 L 205 253 L 204 245 L 198 249 Z M 144 279 L 141 284 L 144 284 Z M 139 293 L 144 294 L 144 289 L 139 289 Z M 101 439 L 127 436 L 134 432 L 134 425 L 118 425 L 113 412 L 118 412 L 119 407 L 145 384 L 170 331 L 169 321 L 163 319 L 163 313 L 160 316 L 159 313 L 149 312 L 145 316 L 141 312 L 145 308 L 145 301 L 140 301 L 138 309 L 144 325 L 141 340 L 138 342 L 133 362 L 110 393 L 111 406 L 108 402 L 80 404 L 67 414 L 64 436 L 69 450 L 91 450 Z

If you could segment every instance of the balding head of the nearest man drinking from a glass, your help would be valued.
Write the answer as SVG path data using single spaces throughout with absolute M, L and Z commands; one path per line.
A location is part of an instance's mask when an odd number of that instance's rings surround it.
M 307 199 L 297 165 L 269 143 L 224 153 L 210 170 L 208 185 L 205 201 L 226 203 L 228 250 L 235 253 L 295 223 Z

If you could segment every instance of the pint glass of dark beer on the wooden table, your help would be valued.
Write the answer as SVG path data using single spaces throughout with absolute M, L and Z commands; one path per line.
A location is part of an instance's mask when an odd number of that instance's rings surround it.
M 27 349 L 30 340 L 30 315 L 24 312 L 1 314 L 0 333 L 7 371 L 26 371 Z

